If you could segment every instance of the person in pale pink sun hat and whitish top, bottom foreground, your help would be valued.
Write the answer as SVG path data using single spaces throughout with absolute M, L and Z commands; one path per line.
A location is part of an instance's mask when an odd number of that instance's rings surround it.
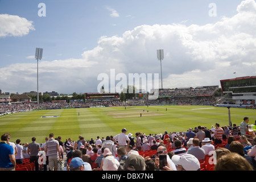
M 110 152 L 109 148 L 104 149 L 104 160 L 103 160 L 103 171 L 117 171 L 119 167 L 119 162 L 114 158 L 112 152 Z

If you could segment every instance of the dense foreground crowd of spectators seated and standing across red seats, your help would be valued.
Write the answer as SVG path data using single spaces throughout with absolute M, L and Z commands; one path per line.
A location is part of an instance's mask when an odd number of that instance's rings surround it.
M 185 132 L 138 132 L 134 137 L 122 129 L 115 136 L 85 140 L 79 135 L 78 140 L 69 138 L 65 142 L 49 134 L 46 143 L 41 144 L 36 143 L 35 137 L 26 144 L 16 139 L 15 144 L 5 133 L 0 143 L 0 170 L 15 170 L 29 158 L 36 170 L 47 170 L 48 166 L 51 171 L 255 171 L 255 130 L 249 131 L 248 125 L 249 118 L 245 117 L 239 126 L 215 123 L 209 129 L 197 126 Z M 41 166 L 37 162 L 42 154 L 39 151 L 45 152 L 48 162 Z M 162 163 L 162 157 L 167 163 Z M 60 159 L 65 159 L 63 166 Z

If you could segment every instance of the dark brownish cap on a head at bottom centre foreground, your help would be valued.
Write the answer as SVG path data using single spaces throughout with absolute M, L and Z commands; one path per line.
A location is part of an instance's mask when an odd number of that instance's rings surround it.
M 104 159 L 105 160 L 105 159 Z M 124 171 L 144 171 L 146 163 L 141 155 L 131 154 L 125 160 Z

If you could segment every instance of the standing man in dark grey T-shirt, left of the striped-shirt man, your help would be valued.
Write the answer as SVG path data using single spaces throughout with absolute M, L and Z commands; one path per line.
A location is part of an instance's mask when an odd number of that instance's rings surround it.
M 36 143 L 36 138 L 32 137 L 32 143 L 27 146 L 27 153 L 30 155 L 30 162 L 35 163 L 35 170 L 39 171 L 38 152 L 41 151 L 39 143 Z

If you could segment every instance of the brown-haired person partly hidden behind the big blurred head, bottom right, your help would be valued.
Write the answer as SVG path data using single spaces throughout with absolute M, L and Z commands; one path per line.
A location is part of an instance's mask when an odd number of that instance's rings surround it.
M 247 160 L 247 162 L 249 162 L 251 164 L 251 166 L 254 168 L 254 170 L 256 170 L 256 161 L 253 158 L 251 158 L 250 156 L 245 155 L 245 153 L 243 151 L 243 145 L 241 142 L 234 141 L 234 142 L 230 143 L 229 150 L 230 150 L 230 152 L 234 152 L 234 153 L 241 155 L 243 158 L 245 158 Z

